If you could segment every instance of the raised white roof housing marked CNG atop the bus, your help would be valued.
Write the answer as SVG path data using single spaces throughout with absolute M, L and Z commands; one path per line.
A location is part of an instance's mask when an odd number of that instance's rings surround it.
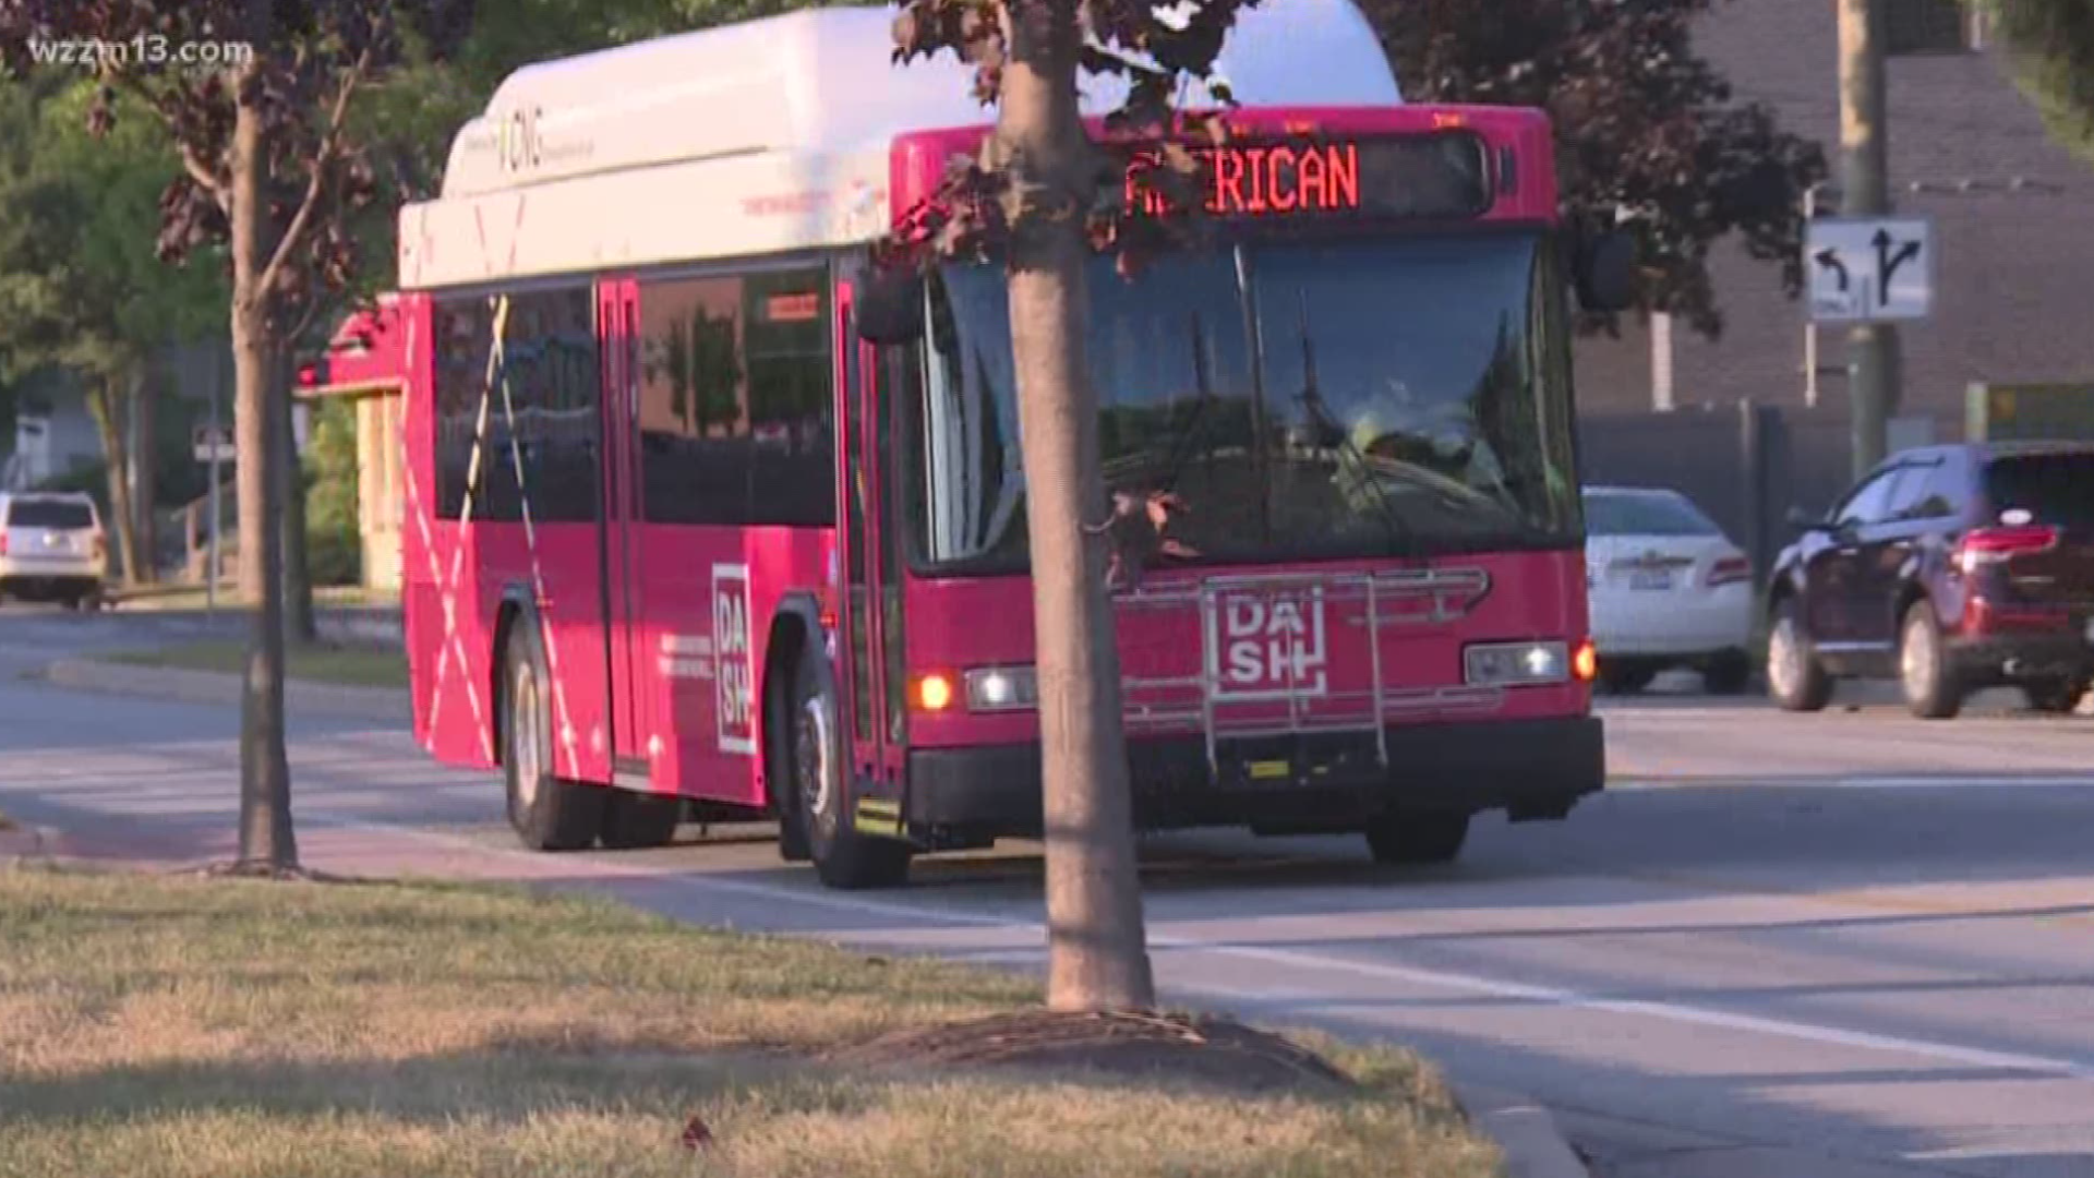
M 806 8 L 526 65 L 465 124 L 444 197 L 743 153 L 848 153 L 911 130 L 988 124 L 951 52 L 894 65 L 892 8 Z M 1351 0 L 1248 8 L 1217 61 L 1254 105 L 1395 105 L 1395 75 Z M 1087 113 L 1127 96 L 1085 82 Z M 1183 101 L 1212 105 L 1194 84 Z

